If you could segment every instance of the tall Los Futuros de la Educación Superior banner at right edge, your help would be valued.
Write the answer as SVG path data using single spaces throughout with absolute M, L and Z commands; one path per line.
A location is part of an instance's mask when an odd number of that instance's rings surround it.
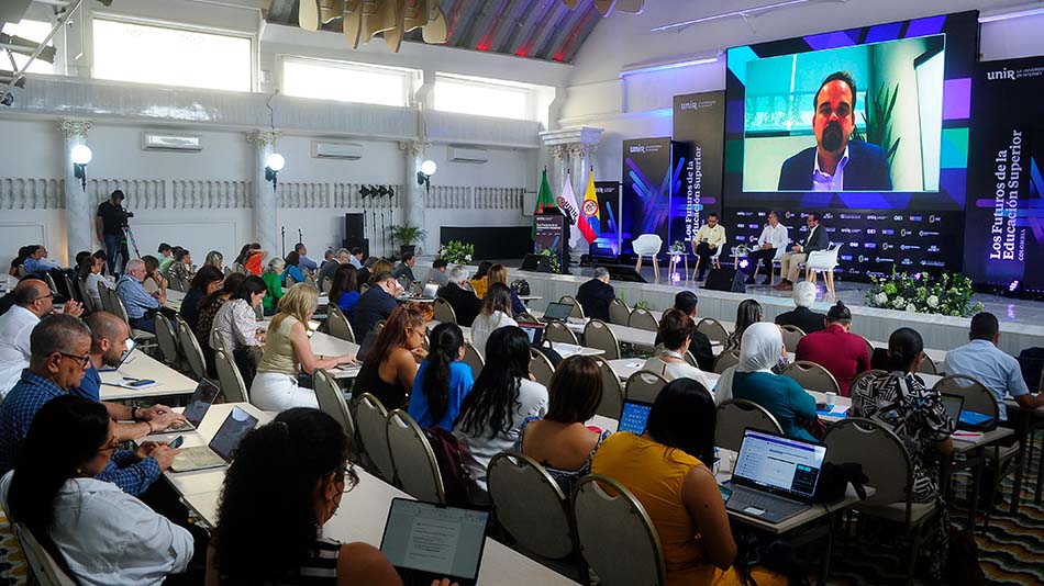
M 978 64 L 971 100 L 964 272 L 1044 290 L 1044 57 Z

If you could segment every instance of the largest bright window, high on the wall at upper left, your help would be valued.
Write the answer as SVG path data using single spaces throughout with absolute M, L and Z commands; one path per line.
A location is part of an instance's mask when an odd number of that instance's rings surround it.
M 251 91 L 251 40 L 95 19 L 95 77 Z

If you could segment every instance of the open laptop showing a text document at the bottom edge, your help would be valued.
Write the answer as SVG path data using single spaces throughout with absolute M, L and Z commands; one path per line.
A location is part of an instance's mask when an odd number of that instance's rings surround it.
M 406 586 L 449 578 L 460 586 L 478 581 L 489 512 L 393 498 L 380 551 Z

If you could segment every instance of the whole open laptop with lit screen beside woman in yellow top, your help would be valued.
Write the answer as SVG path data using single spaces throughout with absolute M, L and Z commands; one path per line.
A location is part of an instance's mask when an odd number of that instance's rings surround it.
M 808 510 L 825 458 L 821 443 L 744 430 L 725 508 L 770 523 Z

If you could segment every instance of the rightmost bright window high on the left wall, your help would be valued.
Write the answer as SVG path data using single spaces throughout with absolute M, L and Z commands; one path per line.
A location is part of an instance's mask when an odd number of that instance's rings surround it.
M 435 76 L 434 109 L 443 112 L 532 120 L 532 90 L 508 81 Z

